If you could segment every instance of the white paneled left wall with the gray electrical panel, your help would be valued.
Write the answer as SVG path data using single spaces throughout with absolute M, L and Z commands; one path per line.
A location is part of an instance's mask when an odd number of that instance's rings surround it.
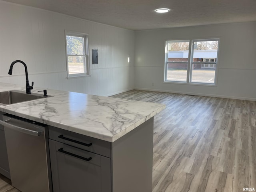
M 64 30 L 89 34 L 91 76 L 67 79 Z M 99 64 L 92 65 L 92 49 Z M 128 63 L 130 56 L 130 63 Z M 134 31 L 0 0 L 0 82 L 109 96 L 134 88 Z

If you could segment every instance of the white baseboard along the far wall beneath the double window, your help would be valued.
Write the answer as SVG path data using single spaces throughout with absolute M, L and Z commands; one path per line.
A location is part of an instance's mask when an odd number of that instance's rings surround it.
M 193 93 L 193 92 L 179 92 L 179 91 L 168 91 L 168 90 L 159 90 L 159 89 L 147 89 L 134 87 L 136 90 L 145 90 L 145 91 L 158 91 L 158 92 L 167 92 L 167 93 L 178 93 L 178 94 L 187 94 L 187 95 L 197 95 L 197 96 L 208 96 L 208 97 L 220 97 L 220 98 L 228 98 L 228 99 L 239 99 L 239 100 L 248 100 L 248 101 L 256 101 L 256 98 L 247 98 L 247 97 L 236 97 L 236 96 L 226 96 L 226 95 L 216 95 L 216 94 L 202 94 L 202 93 Z

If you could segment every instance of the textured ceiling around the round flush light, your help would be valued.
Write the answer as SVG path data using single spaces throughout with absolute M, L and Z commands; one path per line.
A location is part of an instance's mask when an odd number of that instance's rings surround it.
M 5 0 L 130 30 L 256 21 L 256 0 Z M 170 12 L 158 14 L 157 8 Z

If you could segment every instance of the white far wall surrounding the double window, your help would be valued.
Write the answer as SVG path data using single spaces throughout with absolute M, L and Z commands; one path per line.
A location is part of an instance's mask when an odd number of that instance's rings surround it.
M 165 40 L 201 38 L 220 38 L 217 86 L 164 83 Z M 136 89 L 256 100 L 256 22 L 137 31 L 135 52 Z

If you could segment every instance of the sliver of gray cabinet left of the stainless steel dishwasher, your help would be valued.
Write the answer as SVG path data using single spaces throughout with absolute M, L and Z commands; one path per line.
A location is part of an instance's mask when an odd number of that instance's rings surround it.
M 0 120 L 2 120 L 2 115 L 4 113 L 0 112 Z M 4 135 L 4 126 L 0 125 L 0 174 L 6 176 L 7 178 L 11 178 L 10 176 L 10 168 L 8 163 L 8 155 L 6 149 L 6 141 Z

